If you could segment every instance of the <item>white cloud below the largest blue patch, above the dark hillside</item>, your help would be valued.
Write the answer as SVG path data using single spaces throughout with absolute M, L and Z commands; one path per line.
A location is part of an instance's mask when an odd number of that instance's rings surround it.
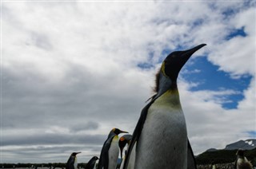
M 188 91 L 189 85 L 181 82 L 180 96 L 186 116 L 189 138 L 196 154 L 205 147 L 224 148 L 226 144 L 248 139 L 246 131 L 255 130 L 254 87 L 246 91 L 238 109 L 223 109 L 215 95 L 229 95 L 234 91 Z M 249 94 L 250 93 L 250 94 Z M 249 95 L 248 95 L 249 94 Z M 253 98 L 254 97 L 254 98 Z M 242 107 L 241 104 L 246 104 Z

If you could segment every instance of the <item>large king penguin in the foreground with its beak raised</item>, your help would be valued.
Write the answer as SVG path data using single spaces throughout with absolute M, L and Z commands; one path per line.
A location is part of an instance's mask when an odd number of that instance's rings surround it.
M 134 149 L 135 169 L 196 168 L 193 151 L 190 150 L 187 139 L 186 120 L 179 100 L 177 78 L 186 61 L 205 45 L 175 51 L 162 62 L 156 75 L 156 94 L 150 103 L 142 108 L 128 148 L 125 169 L 130 163 L 130 154 Z

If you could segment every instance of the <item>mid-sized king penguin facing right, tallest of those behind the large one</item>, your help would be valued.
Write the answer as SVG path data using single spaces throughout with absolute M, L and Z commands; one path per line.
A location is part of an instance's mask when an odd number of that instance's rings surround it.
M 118 128 L 113 128 L 110 131 L 102 147 L 98 169 L 115 169 L 117 167 L 119 155 L 118 134 L 120 133 L 128 132 L 121 131 Z

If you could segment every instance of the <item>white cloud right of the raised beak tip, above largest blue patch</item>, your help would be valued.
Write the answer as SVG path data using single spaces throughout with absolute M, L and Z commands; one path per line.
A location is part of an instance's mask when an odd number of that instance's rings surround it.
M 254 8 L 251 8 L 242 10 L 228 21 L 232 29 L 244 27 L 246 37 L 234 37 L 211 46 L 210 61 L 219 65 L 221 70 L 231 73 L 232 77 L 255 75 L 255 15 Z

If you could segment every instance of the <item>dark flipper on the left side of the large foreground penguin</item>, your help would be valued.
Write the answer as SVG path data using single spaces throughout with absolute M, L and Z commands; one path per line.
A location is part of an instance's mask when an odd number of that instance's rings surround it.
M 131 151 L 133 150 L 133 148 L 136 148 L 136 147 L 134 147 L 134 144 L 138 141 L 138 139 L 142 133 L 142 128 L 143 128 L 145 120 L 146 120 L 148 109 L 150 108 L 150 105 L 154 103 L 155 99 L 156 98 L 153 97 L 153 99 L 150 101 L 150 103 L 146 104 L 146 106 L 142 109 L 141 116 L 139 117 L 138 123 L 136 124 L 136 127 L 134 129 L 133 138 L 130 141 L 130 146 L 128 147 L 128 151 L 127 151 L 123 169 L 126 169 L 128 167 Z

